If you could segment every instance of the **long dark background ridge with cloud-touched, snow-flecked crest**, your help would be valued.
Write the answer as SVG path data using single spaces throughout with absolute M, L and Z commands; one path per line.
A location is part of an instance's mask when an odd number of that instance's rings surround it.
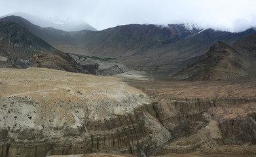
M 103 31 L 66 32 L 35 26 L 18 16 L 8 16 L 0 21 L 16 22 L 63 52 L 113 58 L 130 69 L 139 70 L 174 71 L 206 54 L 217 41 L 230 44 L 256 33 L 255 29 L 239 33 L 187 29 L 184 24 L 167 27 L 131 24 Z

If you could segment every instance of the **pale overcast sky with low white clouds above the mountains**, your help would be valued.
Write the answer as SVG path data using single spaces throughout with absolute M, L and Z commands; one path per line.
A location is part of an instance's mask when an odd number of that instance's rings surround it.
M 26 12 L 84 20 L 98 30 L 124 24 L 198 24 L 228 31 L 256 26 L 255 0 L 0 0 L 0 16 Z

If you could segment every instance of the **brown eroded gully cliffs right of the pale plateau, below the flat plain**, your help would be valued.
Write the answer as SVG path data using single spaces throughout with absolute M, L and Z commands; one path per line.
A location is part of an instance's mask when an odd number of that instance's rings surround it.
M 162 99 L 157 118 L 175 140 L 153 154 L 190 153 L 256 138 L 256 99 Z

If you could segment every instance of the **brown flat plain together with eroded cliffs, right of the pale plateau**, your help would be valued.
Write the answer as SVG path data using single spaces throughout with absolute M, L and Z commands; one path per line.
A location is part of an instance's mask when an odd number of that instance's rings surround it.
M 149 150 L 147 155 L 196 150 L 201 155 L 254 155 L 255 78 L 227 82 L 126 82 L 153 98 L 156 117 L 172 134 L 166 145 Z M 244 145 L 244 148 L 238 153 L 238 148 L 223 145 Z

